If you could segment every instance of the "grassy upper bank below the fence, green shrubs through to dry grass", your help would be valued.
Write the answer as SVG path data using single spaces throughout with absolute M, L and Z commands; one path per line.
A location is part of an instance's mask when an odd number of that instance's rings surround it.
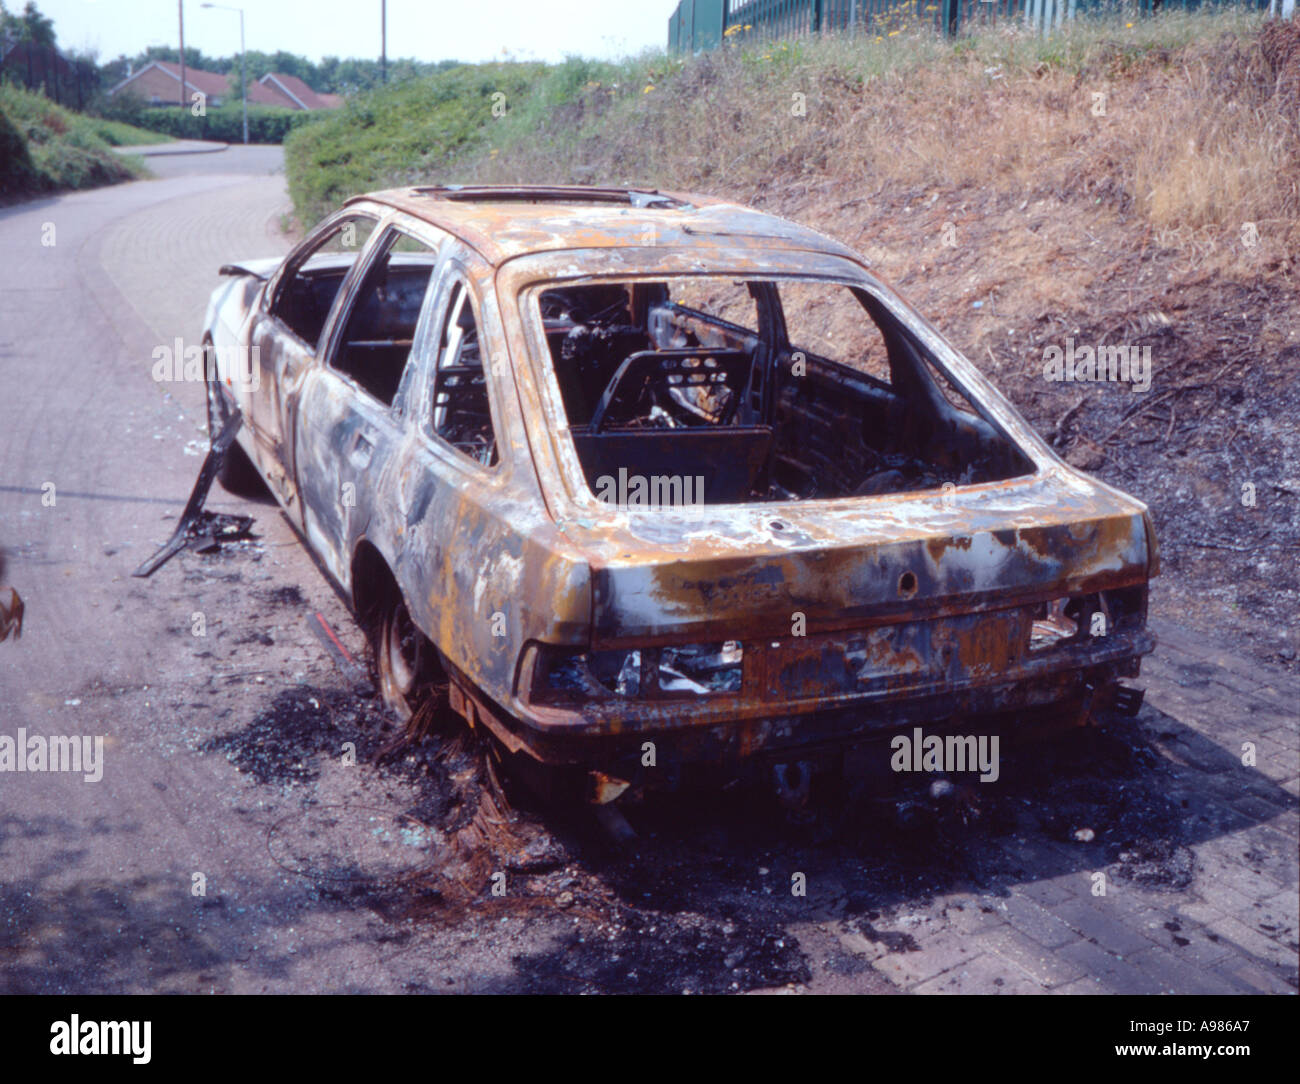
M 1010 27 L 956 44 L 905 32 L 459 68 L 295 133 L 290 191 L 307 222 L 352 192 L 433 179 L 748 200 L 809 185 L 1075 191 L 1174 243 L 1254 222 L 1280 251 L 1300 208 L 1295 109 L 1260 25 L 1171 13 L 1046 39 Z

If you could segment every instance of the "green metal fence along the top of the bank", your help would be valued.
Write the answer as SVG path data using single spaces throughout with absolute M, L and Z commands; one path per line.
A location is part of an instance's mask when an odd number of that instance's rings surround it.
M 1265 9 L 1270 0 L 1240 0 Z M 933 26 L 949 35 L 962 27 L 1019 19 L 1048 32 L 1082 14 L 1160 8 L 1193 10 L 1202 0 L 681 0 L 668 18 L 672 52 L 714 49 L 724 39 L 796 34 L 888 35 L 915 26 Z

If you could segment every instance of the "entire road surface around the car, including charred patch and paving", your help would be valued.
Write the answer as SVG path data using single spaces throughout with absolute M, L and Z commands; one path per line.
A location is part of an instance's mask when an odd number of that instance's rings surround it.
M 277 148 L 150 165 L 0 211 L 0 740 L 103 738 L 98 781 L 0 775 L 0 992 L 1295 990 L 1300 690 L 1176 629 L 1136 727 L 1013 763 L 974 825 L 706 795 L 630 810 L 629 857 L 464 736 L 381 755 L 273 506 L 214 490 L 256 541 L 133 578 L 207 438 L 155 351 L 289 247 Z

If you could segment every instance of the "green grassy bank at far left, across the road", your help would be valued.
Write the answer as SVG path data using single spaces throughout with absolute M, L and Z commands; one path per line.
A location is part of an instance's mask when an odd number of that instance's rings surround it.
M 39 94 L 0 86 L 0 200 L 94 188 L 144 173 L 114 146 L 160 142 L 153 133 L 64 109 Z

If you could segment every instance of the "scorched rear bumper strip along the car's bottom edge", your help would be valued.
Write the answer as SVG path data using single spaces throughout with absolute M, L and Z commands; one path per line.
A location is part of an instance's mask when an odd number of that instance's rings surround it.
M 498 737 L 508 732 L 507 745 L 516 751 L 549 764 L 644 779 L 646 742 L 654 742 L 655 767 L 671 773 L 694 763 L 815 758 L 888 737 L 900 727 L 1083 703 L 1105 697 L 1117 678 L 1136 676 L 1141 656 L 1154 646 L 1145 628 L 1131 629 L 1004 668 L 945 677 L 889 675 L 853 691 L 828 688 L 816 694 L 809 688 L 800 699 L 729 694 L 655 702 L 616 698 L 581 707 L 516 703 L 510 715 L 477 697 L 473 702 Z M 763 662 L 748 656 L 750 665 Z M 746 680 L 746 688 L 754 682 Z

